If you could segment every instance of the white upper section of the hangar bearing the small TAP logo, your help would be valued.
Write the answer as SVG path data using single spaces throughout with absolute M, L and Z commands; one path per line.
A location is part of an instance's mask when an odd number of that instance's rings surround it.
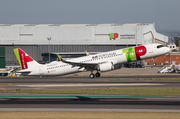
M 168 42 L 154 24 L 0 24 L 2 45 L 139 45 L 153 37 Z

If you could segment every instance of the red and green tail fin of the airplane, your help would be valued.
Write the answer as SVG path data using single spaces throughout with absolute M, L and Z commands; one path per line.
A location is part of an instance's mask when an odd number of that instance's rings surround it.
M 20 48 L 16 48 L 13 50 L 22 70 L 38 65 L 38 63 L 33 58 L 31 58 Z

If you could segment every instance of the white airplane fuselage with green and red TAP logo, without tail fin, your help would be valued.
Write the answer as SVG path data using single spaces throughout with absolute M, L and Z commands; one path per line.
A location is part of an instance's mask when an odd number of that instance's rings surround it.
M 67 61 L 77 62 L 81 64 L 112 62 L 113 65 L 115 65 L 115 64 L 131 62 L 131 61 L 154 58 L 166 54 L 170 51 L 170 49 L 167 47 L 157 48 L 158 45 L 159 44 L 148 44 L 139 48 L 137 48 L 138 46 L 136 48 L 135 47 L 124 48 L 124 49 L 104 52 L 100 54 L 74 58 Z M 139 56 L 140 59 L 138 59 L 136 53 L 139 53 L 141 55 L 142 52 L 144 52 L 145 54 Z M 87 71 L 84 67 L 74 66 L 71 64 L 63 63 L 61 61 L 54 61 L 44 65 L 39 64 L 37 66 L 31 67 L 31 69 L 29 70 L 31 70 L 31 73 L 29 73 L 28 75 L 41 75 L 41 76 L 65 75 L 80 71 Z

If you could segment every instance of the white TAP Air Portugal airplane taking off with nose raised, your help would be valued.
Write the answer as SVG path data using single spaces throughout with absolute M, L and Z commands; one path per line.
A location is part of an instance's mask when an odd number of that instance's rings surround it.
M 20 48 L 13 49 L 21 66 L 19 73 L 28 76 L 60 76 L 82 71 L 91 71 L 90 78 L 100 77 L 99 72 L 114 70 L 117 64 L 158 57 L 170 52 L 168 47 L 161 44 L 147 44 L 113 50 L 95 55 L 39 64 Z M 93 73 L 97 71 L 97 73 Z

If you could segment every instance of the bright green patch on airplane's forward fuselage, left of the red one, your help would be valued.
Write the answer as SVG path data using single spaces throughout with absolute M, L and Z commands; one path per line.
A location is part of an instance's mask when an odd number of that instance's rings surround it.
M 135 48 L 123 49 L 123 53 L 126 54 L 126 59 L 128 62 L 131 62 L 133 59 L 136 60 Z

